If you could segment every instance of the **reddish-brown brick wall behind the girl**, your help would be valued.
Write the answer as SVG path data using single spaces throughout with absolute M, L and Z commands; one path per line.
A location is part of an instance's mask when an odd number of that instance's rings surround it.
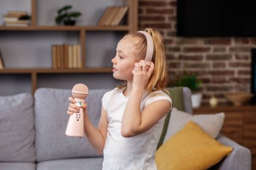
M 251 89 L 251 48 L 256 38 L 180 38 L 176 36 L 176 0 L 139 0 L 139 29 L 157 28 L 164 37 L 170 83 L 183 73 L 202 80 L 203 103 L 215 95 Z

